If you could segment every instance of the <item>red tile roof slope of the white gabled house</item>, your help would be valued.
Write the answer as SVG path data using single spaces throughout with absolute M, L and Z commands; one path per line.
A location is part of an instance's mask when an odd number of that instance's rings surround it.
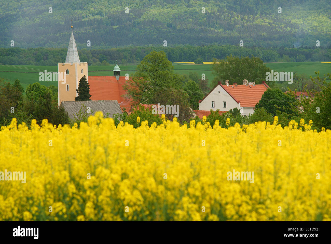
M 260 85 L 222 85 L 221 87 L 235 100 L 240 101 L 241 107 L 255 107 L 263 93 L 269 88 L 265 83 Z

